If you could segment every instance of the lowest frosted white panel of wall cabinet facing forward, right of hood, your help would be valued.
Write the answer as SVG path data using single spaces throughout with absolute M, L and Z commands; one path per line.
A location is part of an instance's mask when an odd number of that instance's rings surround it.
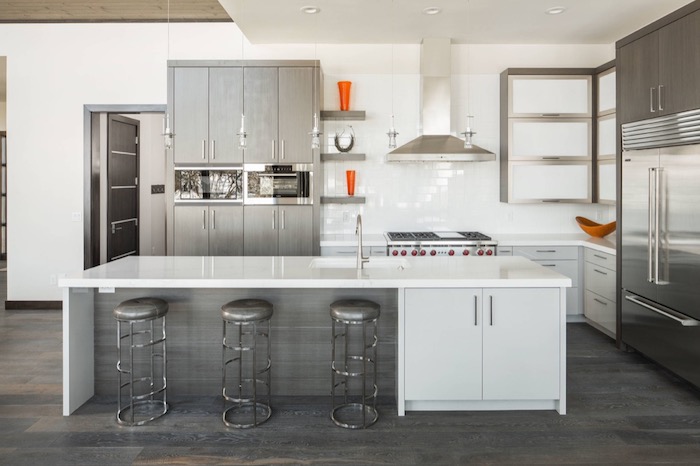
M 591 162 L 512 162 L 508 202 L 591 202 Z

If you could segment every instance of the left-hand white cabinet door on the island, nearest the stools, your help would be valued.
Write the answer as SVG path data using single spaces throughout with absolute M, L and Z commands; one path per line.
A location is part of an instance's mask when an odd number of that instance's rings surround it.
M 406 400 L 481 399 L 481 290 L 408 289 Z

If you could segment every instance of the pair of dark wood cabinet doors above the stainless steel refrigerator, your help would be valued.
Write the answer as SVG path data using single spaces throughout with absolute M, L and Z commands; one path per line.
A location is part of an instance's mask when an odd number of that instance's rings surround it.
M 620 123 L 700 107 L 700 11 L 618 42 Z

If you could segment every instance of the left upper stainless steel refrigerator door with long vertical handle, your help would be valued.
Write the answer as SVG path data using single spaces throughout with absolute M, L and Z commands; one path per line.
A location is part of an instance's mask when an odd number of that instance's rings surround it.
M 657 299 L 654 278 L 654 172 L 658 149 L 622 154 L 622 288 Z

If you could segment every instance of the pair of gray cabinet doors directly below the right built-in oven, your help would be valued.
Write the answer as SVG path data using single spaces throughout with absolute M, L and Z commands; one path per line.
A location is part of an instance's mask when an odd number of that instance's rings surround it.
M 246 206 L 246 256 L 310 256 L 313 254 L 311 206 Z

